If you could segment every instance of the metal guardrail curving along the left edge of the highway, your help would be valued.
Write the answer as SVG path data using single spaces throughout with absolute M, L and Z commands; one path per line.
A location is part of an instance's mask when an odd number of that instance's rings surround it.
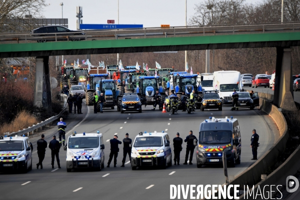
M 51 124 L 53 121 L 55 121 L 57 118 L 60 117 L 60 115 L 65 111 L 66 109 L 66 99 L 67 99 L 67 95 L 66 94 L 59 94 L 59 99 L 62 101 L 63 100 L 63 108 L 62 110 L 55 116 L 51 116 L 50 118 L 47 118 L 44 121 L 41 121 L 40 123 L 37 124 L 33 124 L 32 126 L 29 126 L 28 128 L 24 128 L 23 130 L 19 130 L 17 132 L 11 132 L 9 134 L 7 134 L 7 136 L 14 136 L 14 135 L 23 135 L 23 134 L 27 134 L 27 136 L 29 136 L 29 132 L 32 132 L 34 130 L 37 130 L 37 128 L 41 128 L 42 126 L 48 126 L 48 124 Z

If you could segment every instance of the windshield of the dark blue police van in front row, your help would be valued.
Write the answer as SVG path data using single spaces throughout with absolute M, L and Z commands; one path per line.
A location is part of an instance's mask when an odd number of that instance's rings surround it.
M 204 144 L 228 144 L 231 142 L 231 131 L 211 130 L 199 132 L 199 143 Z

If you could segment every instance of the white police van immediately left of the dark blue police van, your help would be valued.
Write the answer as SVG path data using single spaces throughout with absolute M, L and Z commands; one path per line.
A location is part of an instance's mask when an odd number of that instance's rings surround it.
M 172 165 L 169 136 L 166 132 L 140 132 L 134 139 L 131 149 L 131 168 L 142 166 Z

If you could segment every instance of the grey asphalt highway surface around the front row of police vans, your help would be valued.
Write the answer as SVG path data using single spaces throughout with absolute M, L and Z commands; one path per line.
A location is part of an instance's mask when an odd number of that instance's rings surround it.
M 299 92 L 300 93 L 300 92 Z M 105 141 L 105 167 L 101 171 L 80 170 L 66 172 L 66 151 L 60 150 L 61 169 L 54 164 L 54 170 L 50 165 L 50 150 L 47 148 L 43 161 L 43 169 L 36 169 L 37 153 L 36 146 L 33 150 L 32 170 L 25 173 L 2 173 L 0 174 L 0 199 L 169 199 L 170 184 L 223 184 L 225 177 L 222 166 L 202 166 L 197 168 L 195 155 L 192 165 L 183 165 L 185 146 L 183 143 L 180 154 L 180 165 L 172 165 L 166 169 L 140 169 L 131 170 L 129 159 L 126 158 L 125 167 L 120 167 L 122 159 L 122 144 L 119 145 L 120 152 L 117 157 L 117 167 L 107 168 L 109 155 L 109 141 L 113 134 L 117 133 L 118 139 L 122 140 L 126 132 L 133 140 L 140 131 L 162 131 L 167 132 L 172 139 L 176 132 L 181 138 L 185 138 L 189 130 L 197 132 L 199 124 L 209 116 L 225 117 L 233 116 L 239 121 L 241 128 L 241 163 L 233 168 L 228 168 L 228 175 L 236 176 L 254 161 L 250 145 L 251 131 L 256 129 L 259 134 L 260 147 L 258 158 L 268 150 L 276 138 L 277 132 L 272 132 L 269 126 L 274 122 L 268 115 L 260 110 L 239 109 L 230 111 L 230 107 L 223 107 L 222 111 L 196 109 L 194 113 L 178 111 L 178 114 L 161 113 L 161 111 L 150 110 L 151 106 L 143 107 L 142 113 L 125 112 L 121 114 L 115 109 L 104 109 L 103 113 L 93 113 L 93 107 L 88 107 L 88 113 L 83 121 L 74 127 L 67 126 L 66 137 L 72 131 L 103 133 Z M 86 113 L 86 106 L 83 106 Z M 72 128 L 72 129 L 71 129 Z M 54 131 L 54 130 L 53 130 Z M 56 131 L 55 131 L 56 132 Z M 57 135 L 57 133 L 56 133 Z M 46 137 L 50 141 L 51 135 Z M 36 138 L 31 138 L 36 143 Z M 171 147 L 173 148 L 172 142 Z M 173 153 L 173 152 L 172 152 Z M 182 195 L 181 195 L 182 199 Z

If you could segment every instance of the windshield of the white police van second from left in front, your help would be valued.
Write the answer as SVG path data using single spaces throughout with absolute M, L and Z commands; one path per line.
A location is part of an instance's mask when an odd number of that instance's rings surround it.
M 99 146 L 99 137 L 70 137 L 68 139 L 69 148 L 96 148 Z

